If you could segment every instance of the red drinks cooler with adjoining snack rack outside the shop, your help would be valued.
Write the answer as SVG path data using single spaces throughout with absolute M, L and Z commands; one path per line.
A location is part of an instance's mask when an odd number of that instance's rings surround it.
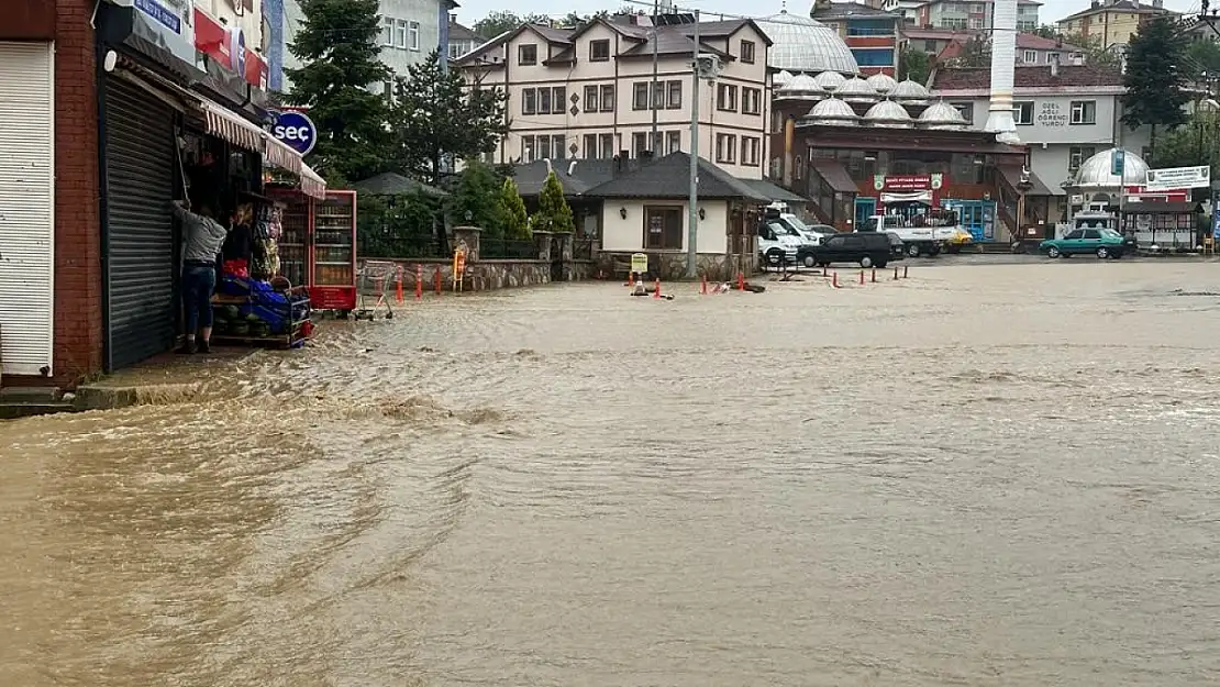
M 272 190 L 284 204 L 279 273 L 309 287 L 316 310 L 356 309 L 356 192 L 328 190 L 325 199 Z

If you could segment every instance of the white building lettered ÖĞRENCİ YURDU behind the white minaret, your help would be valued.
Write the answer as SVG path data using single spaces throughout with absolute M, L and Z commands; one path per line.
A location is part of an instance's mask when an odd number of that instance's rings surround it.
M 989 68 L 942 68 L 932 74 L 933 96 L 944 99 L 970 128 L 987 123 L 991 101 Z M 1088 65 L 1017 66 L 1013 109 L 1016 133 L 1030 149 L 1030 170 L 1037 184 L 1058 199 L 1052 216 L 1065 210 L 1063 182 L 1093 154 L 1114 146 L 1142 154 L 1149 128 L 1121 123 L 1122 73 Z

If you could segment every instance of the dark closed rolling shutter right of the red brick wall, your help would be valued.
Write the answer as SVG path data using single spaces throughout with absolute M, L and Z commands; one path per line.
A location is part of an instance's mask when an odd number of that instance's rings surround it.
M 173 110 L 120 78 L 106 79 L 107 369 L 173 348 Z

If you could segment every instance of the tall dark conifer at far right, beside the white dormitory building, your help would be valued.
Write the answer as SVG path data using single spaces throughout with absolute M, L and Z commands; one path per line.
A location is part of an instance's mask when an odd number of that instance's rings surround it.
M 1158 127 L 1171 129 L 1186 121 L 1182 107 L 1190 98 L 1182 90 L 1180 71 L 1185 54 L 1186 40 L 1165 17 L 1142 24 L 1127 44 L 1122 123 L 1132 128 L 1150 126 L 1154 150 Z

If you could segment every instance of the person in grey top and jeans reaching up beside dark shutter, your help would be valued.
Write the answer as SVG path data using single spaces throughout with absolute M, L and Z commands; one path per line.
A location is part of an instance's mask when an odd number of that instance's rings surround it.
M 212 338 L 216 256 L 228 229 L 212 218 L 212 209 L 206 203 L 199 204 L 199 212 L 192 212 L 190 201 L 174 200 L 173 215 L 182 222 L 182 306 L 187 311 L 187 343 L 178 353 L 207 353 Z M 196 332 L 200 334 L 198 347 Z

